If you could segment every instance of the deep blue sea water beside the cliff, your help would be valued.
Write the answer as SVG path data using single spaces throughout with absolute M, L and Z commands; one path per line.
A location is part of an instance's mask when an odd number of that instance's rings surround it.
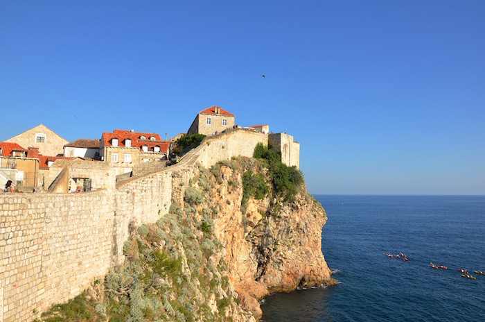
M 485 321 L 485 276 L 457 271 L 485 270 L 485 196 L 315 198 L 328 216 L 322 251 L 339 284 L 273 294 L 263 321 Z

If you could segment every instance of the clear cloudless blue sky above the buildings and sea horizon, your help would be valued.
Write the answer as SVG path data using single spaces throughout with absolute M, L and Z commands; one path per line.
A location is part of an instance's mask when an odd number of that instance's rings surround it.
M 312 194 L 485 194 L 484 17 L 479 0 L 1 0 L 0 141 L 41 123 L 171 137 L 217 105 L 293 135 Z

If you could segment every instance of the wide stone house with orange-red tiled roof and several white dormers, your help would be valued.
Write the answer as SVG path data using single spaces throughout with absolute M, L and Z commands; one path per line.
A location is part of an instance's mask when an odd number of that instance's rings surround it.
M 162 141 L 157 133 L 114 130 L 101 135 L 99 154 L 101 160 L 118 168 L 116 174 L 121 174 L 141 162 L 168 160 L 172 148 L 173 142 Z

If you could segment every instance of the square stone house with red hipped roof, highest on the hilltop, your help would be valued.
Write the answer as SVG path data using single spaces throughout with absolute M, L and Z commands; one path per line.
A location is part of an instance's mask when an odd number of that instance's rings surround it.
M 219 106 L 211 106 L 197 114 L 187 134 L 212 135 L 234 126 L 235 116 Z

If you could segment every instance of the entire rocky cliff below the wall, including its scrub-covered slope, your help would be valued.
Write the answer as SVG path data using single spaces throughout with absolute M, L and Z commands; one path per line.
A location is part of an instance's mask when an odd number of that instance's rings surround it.
M 258 300 L 272 292 L 335 283 L 321 253 L 323 208 L 304 183 L 281 194 L 270 172 L 252 158 L 174 171 L 169 213 L 132 226 L 125 264 L 82 294 L 92 314 L 101 321 L 256 321 Z M 53 310 L 44 319 L 62 316 Z

